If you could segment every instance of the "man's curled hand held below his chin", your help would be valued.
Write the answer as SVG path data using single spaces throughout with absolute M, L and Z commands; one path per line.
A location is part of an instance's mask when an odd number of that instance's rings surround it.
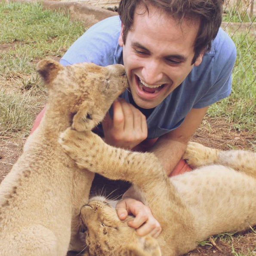
M 113 120 L 107 113 L 102 121 L 105 142 L 118 148 L 132 149 L 148 136 L 146 117 L 124 99 L 113 103 Z

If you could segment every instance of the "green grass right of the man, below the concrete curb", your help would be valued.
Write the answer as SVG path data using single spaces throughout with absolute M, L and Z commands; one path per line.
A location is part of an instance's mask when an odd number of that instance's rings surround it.
M 210 117 L 224 117 L 235 129 L 256 131 L 256 41 L 245 32 L 232 37 L 237 59 L 232 72 L 231 96 L 210 106 Z

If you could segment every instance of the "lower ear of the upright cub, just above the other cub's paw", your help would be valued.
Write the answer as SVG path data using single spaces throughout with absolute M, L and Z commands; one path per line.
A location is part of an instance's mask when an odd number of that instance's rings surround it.
M 78 132 L 89 131 L 98 124 L 94 120 L 93 112 L 90 110 L 93 109 L 93 103 L 89 101 L 84 101 L 80 106 L 77 114 L 73 117 L 72 128 Z

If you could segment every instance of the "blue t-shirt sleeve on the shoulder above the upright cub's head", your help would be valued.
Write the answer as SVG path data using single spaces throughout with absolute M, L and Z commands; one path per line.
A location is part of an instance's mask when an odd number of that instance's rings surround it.
M 60 60 L 62 65 L 93 62 L 100 66 L 115 64 L 122 49 L 118 45 L 121 23 L 119 16 L 107 18 L 89 28 L 68 49 Z

